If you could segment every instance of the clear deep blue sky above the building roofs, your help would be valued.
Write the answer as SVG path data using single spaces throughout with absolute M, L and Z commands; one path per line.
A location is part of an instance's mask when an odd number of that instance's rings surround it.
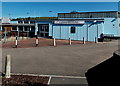
M 117 2 L 3 2 L 2 17 L 57 17 L 57 13 L 117 11 Z

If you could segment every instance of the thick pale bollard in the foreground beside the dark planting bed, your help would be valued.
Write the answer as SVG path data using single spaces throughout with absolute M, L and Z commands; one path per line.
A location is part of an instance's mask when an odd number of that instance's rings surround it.
M 11 76 L 11 56 L 7 55 L 5 58 L 5 78 L 10 78 Z

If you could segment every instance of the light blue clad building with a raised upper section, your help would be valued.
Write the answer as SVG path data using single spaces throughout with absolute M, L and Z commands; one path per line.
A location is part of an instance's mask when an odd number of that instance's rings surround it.
M 36 21 L 35 35 L 56 39 L 95 41 L 104 36 L 120 37 L 120 13 L 71 12 L 58 13 L 58 20 Z

